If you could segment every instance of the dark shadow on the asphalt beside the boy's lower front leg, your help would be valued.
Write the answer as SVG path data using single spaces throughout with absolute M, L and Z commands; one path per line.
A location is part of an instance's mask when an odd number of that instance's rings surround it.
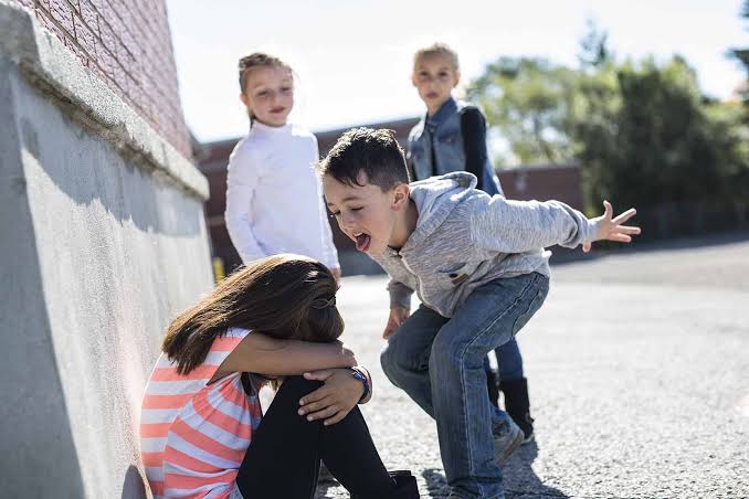
M 503 467 L 505 480 L 505 497 L 507 499 L 530 498 L 568 498 L 559 489 L 544 485 L 530 467 L 538 456 L 536 442 L 520 447 Z M 450 487 L 443 473 L 439 469 L 425 469 L 422 474 L 429 491 L 429 497 L 445 498 L 450 495 Z

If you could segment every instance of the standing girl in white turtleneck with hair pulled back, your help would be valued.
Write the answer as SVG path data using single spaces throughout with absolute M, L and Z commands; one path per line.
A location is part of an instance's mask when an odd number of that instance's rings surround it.
M 313 163 L 317 139 L 286 123 L 294 74 L 277 57 L 253 53 L 239 64 L 250 132 L 229 158 L 226 229 L 242 262 L 277 253 L 318 259 L 340 278 L 323 190 Z

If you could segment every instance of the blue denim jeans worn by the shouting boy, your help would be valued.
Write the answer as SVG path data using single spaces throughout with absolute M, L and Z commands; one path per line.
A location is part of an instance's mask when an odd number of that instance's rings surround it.
M 436 420 L 447 482 L 462 496 L 504 497 L 494 436 L 508 431 L 509 416 L 489 403 L 484 359 L 515 337 L 548 291 L 549 279 L 532 273 L 477 288 L 451 319 L 421 306 L 382 351 L 390 381 Z

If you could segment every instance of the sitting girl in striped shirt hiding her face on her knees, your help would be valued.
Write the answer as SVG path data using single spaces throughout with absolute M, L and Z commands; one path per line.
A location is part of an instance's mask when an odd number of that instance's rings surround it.
M 388 474 L 356 406 L 371 380 L 336 340 L 336 290 L 323 264 L 275 255 L 171 322 L 140 425 L 156 498 L 310 498 L 320 459 L 357 498 L 419 497 L 409 473 Z M 263 415 L 267 378 L 284 381 Z

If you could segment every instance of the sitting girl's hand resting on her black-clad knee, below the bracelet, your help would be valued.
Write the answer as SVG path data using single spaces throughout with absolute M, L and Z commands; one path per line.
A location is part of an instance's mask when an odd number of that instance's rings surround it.
M 365 393 L 363 384 L 351 375 L 350 369 L 305 372 L 304 378 L 325 384 L 299 400 L 299 415 L 306 414 L 307 421 L 325 420 L 326 426 L 346 417 Z

